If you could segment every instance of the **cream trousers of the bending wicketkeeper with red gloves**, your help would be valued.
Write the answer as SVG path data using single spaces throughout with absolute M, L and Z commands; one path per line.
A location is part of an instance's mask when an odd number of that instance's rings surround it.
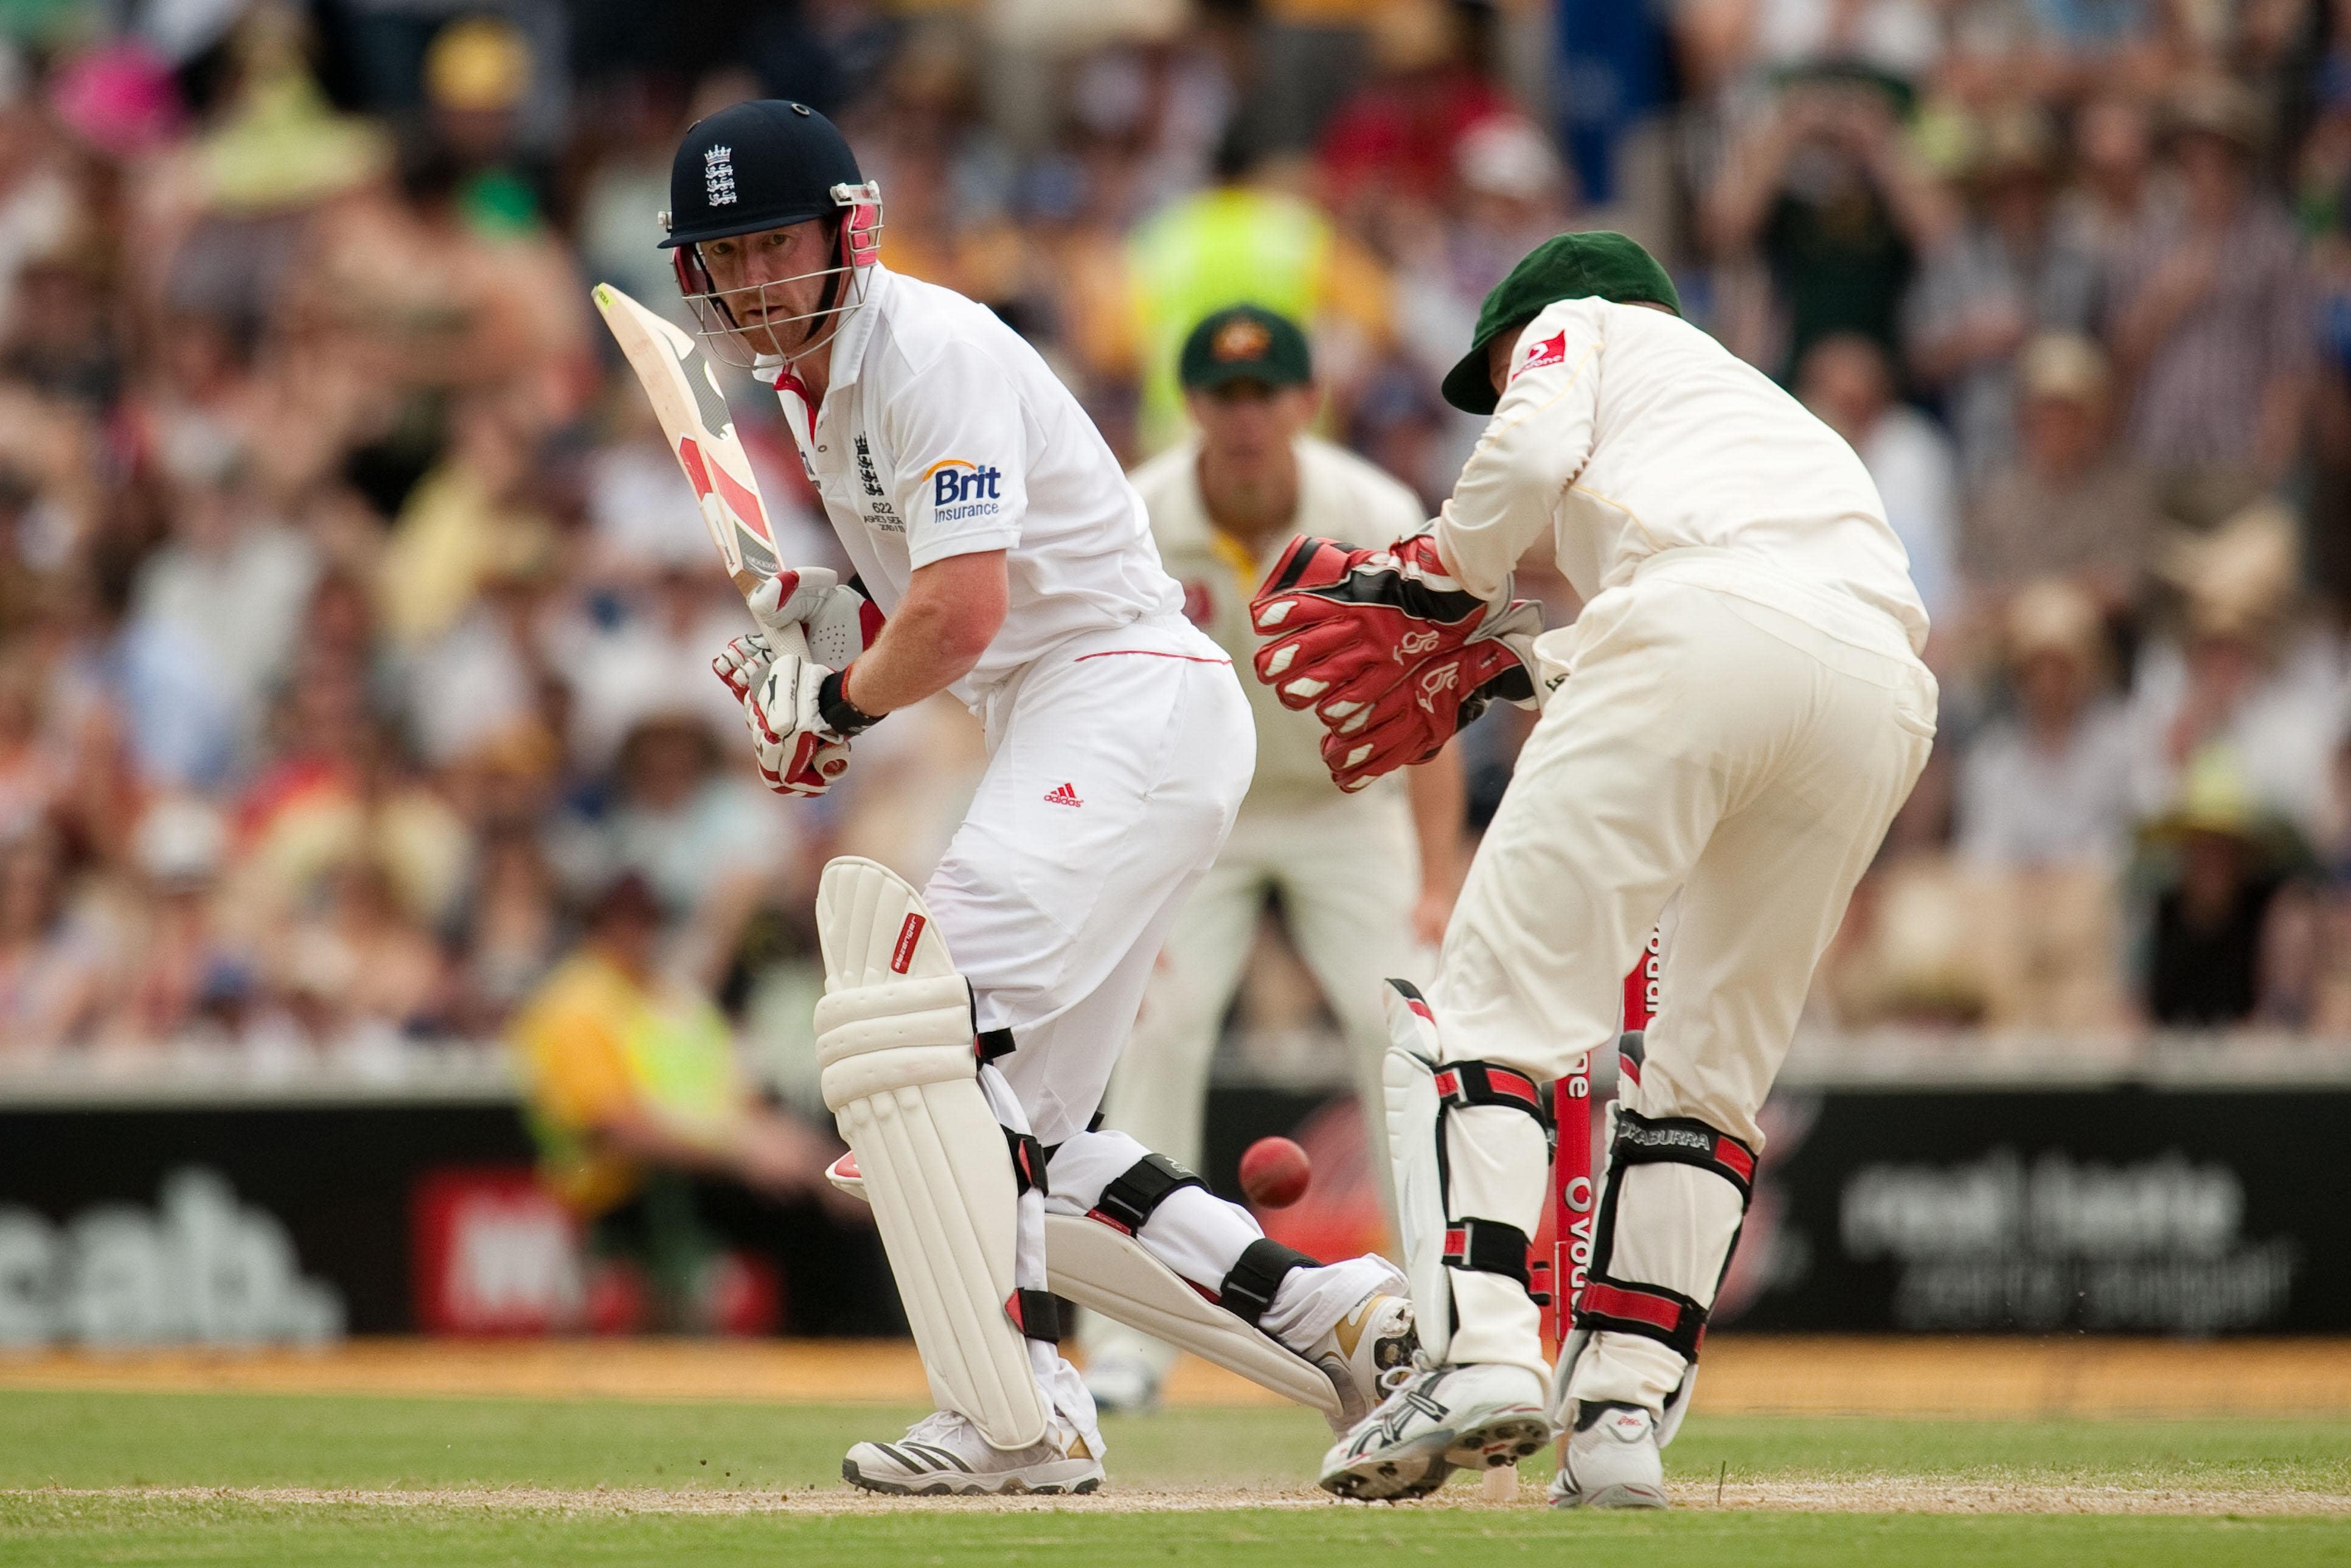
M 1620 985 L 1679 891 L 1643 1117 L 1695 1117 L 1761 1150 L 1756 1112 L 1886 827 L 1925 766 L 1935 677 L 1893 618 L 1716 550 L 1672 550 L 1601 592 L 1538 651 L 1570 670 L 1519 752 L 1469 867 L 1429 1001 L 1455 1060 L 1556 1079 L 1617 1030 Z M 1540 1128 L 1453 1112 L 1455 1215 L 1535 1232 Z M 1688 1166 L 1634 1166 L 1610 1274 L 1700 1305 L 1737 1234 L 1737 1192 Z M 1516 1281 L 1453 1274 L 1453 1361 L 1542 1368 Z M 1575 1399 L 1657 1406 L 1683 1359 L 1599 1333 Z

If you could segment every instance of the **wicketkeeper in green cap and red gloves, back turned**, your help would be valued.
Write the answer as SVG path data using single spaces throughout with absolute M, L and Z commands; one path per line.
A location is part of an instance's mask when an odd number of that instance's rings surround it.
M 1328 726 L 1342 788 L 1542 696 L 1427 997 L 1387 992 L 1389 1145 L 1422 1363 L 1324 1460 L 1415 1497 L 1566 1434 L 1563 1507 L 1665 1507 L 1787 1053 L 1829 936 L 1925 766 L 1925 611 L 1860 458 L 1679 315 L 1632 240 L 1559 235 L 1479 310 L 1444 381 L 1491 414 L 1429 531 L 1298 538 L 1258 672 Z M 1533 637 L 1512 569 L 1547 541 L 1582 597 Z M 1617 1030 L 1674 893 L 1662 1009 L 1625 1084 L 1589 1284 L 1545 1387 L 1528 1237 L 1542 1084 Z

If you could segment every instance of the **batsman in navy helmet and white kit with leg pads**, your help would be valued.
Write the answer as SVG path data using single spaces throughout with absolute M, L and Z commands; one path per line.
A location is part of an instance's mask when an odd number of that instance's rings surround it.
M 820 1086 L 938 1401 L 903 1441 L 853 1446 L 844 1479 L 1100 1483 L 1093 1399 L 1056 1345 L 1049 1208 L 1086 1239 L 1056 1288 L 1293 1396 L 1302 1375 L 1354 1420 L 1413 1352 L 1396 1269 L 1267 1241 L 1166 1157 L 1091 1131 L 1253 757 L 1232 663 L 1183 618 L 1117 458 L 990 310 L 879 263 L 882 193 L 809 106 L 696 122 L 665 228 L 705 343 L 776 388 L 858 567 L 762 583 L 764 630 L 715 661 L 762 778 L 823 795 L 856 736 L 936 691 L 987 733 L 926 889 L 856 858 L 818 889 Z M 790 625 L 806 658 L 783 651 Z

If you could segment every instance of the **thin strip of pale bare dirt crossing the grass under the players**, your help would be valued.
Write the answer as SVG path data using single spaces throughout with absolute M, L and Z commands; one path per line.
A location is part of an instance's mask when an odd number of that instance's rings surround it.
M 2130 1488 L 1949 1481 L 1914 1476 L 1683 1481 L 1672 1486 L 1681 1509 L 1773 1509 L 1801 1514 L 2351 1514 L 2351 1495 L 2292 1488 Z M 510 1514 L 898 1514 L 945 1509 L 964 1514 L 1208 1514 L 1239 1509 L 1361 1509 L 1312 1488 L 1110 1488 L 1086 1497 L 882 1497 L 846 1486 L 795 1493 L 658 1490 L 536 1486 L 322 1490 L 301 1486 L 110 1486 L 0 1490 L 0 1502 L 230 1502 L 249 1507 L 397 1507 Z M 1415 1509 L 1531 1509 L 1542 1488 L 1521 1483 L 1514 1502 L 1491 1502 L 1469 1486 L 1453 1486 Z

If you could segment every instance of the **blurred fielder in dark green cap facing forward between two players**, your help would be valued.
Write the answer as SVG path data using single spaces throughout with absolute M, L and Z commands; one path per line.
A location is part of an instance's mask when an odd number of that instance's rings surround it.
M 1305 331 L 1260 306 L 1204 317 L 1176 376 L 1194 435 L 1131 477 L 1185 614 L 1234 658 L 1255 651 L 1248 597 L 1293 534 L 1389 545 L 1420 531 L 1420 498 L 1345 447 L 1307 435 L 1314 362 Z M 1192 889 L 1143 994 L 1136 1044 L 1110 1079 L 1107 1126 L 1197 1164 L 1208 1060 L 1270 891 L 1354 1056 L 1364 1124 L 1387 1187 L 1380 983 L 1422 978 L 1460 879 L 1460 759 L 1441 752 L 1359 795 L 1331 788 L 1321 724 L 1248 682 L 1258 773 L 1215 865 Z M 1089 1314 L 1086 1387 L 1096 1403 L 1147 1410 L 1173 1352 Z

